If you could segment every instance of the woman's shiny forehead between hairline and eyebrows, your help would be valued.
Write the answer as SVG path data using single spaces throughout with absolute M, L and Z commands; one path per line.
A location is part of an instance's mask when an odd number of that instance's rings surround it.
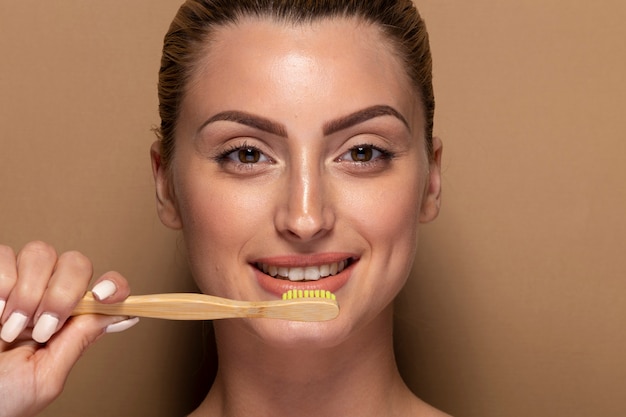
M 198 64 L 187 90 L 191 106 L 222 107 L 205 113 L 277 102 L 345 106 L 338 109 L 344 113 L 368 105 L 403 113 L 415 107 L 416 94 L 390 42 L 356 19 L 244 19 L 213 33 Z

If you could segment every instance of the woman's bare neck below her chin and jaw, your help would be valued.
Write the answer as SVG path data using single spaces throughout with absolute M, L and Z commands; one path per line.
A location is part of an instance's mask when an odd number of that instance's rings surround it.
M 339 346 L 277 350 L 216 327 L 218 375 L 194 416 L 421 415 L 393 354 L 392 309 Z

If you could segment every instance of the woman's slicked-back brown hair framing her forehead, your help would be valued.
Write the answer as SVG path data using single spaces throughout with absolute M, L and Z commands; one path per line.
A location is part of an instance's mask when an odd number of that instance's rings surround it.
M 165 167 L 174 153 L 176 124 L 188 81 L 216 28 L 245 17 L 306 23 L 324 18 L 358 18 L 377 25 L 404 62 L 426 119 L 426 150 L 432 156 L 435 99 L 432 59 L 424 21 L 411 0 L 187 0 L 172 22 L 163 45 L 159 71 L 156 129 Z

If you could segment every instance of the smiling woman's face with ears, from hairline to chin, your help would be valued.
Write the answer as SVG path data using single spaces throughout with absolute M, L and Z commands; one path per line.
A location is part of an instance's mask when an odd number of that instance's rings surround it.
M 326 323 L 242 321 L 266 338 L 340 341 L 403 286 L 439 204 L 419 99 L 376 27 L 353 20 L 220 28 L 187 87 L 171 171 L 153 165 L 208 294 L 334 292 Z

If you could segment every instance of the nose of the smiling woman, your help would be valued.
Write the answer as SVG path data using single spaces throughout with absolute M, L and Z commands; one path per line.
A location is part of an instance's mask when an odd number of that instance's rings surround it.
M 326 236 L 334 227 L 335 213 L 321 170 L 313 167 L 294 169 L 286 182 L 275 219 L 278 232 L 298 242 Z

